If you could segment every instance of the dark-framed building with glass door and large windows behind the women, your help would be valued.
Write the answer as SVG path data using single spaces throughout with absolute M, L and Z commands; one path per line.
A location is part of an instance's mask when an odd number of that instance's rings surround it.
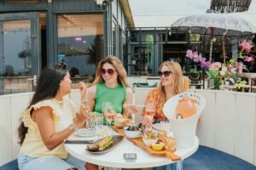
M 128 0 L 0 0 L 0 94 L 31 91 L 45 65 L 64 61 L 90 82 L 96 64 L 124 59 Z

